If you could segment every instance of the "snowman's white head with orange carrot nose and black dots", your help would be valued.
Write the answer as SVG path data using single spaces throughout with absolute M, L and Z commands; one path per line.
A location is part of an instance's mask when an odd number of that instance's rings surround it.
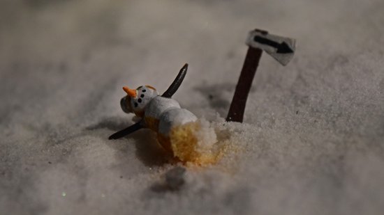
M 158 96 L 156 89 L 149 85 L 139 86 L 135 90 L 124 86 L 123 90 L 127 95 L 120 101 L 121 109 L 125 113 L 135 113 L 139 117 L 144 115 L 145 106 Z

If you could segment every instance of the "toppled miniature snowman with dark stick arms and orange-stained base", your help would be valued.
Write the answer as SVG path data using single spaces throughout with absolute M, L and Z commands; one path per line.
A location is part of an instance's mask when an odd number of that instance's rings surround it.
M 123 90 L 127 95 L 120 101 L 121 109 L 125 113 L 134 113 L 140 121 L 109 138 L 121 138 L 138 129 L 147 128 L 156 132 L 158 143 L 181 161 L 195 164 L 216 161 L 218 154 L 209 147 L 216 142 L 214 129 L 207 131 L 209 135 L 201 135 L 205 133 L 201 132 L 202 126 L 198 118 L 190 111 L 182 109 L 179 102 L 172 99 L 172 95 L 182 84 L 187 69 L 188 64 L 185 64 L 163 95 L 159 95 L 149 85 L 136 89 L 124 86 Z M 209 138 L 205 138 L 206 136 Z

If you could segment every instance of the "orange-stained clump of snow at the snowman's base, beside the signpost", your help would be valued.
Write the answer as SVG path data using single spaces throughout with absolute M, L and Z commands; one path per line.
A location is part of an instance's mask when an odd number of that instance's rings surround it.
M 241 132 L 234 128 L 235 125 L 223 122 L 223 119 L 209 122 L 205 118 L 175 127 L 170 134 L 172 152 L 187 166 L 216 164 L 242 148 L 243 144 L 235 134 Z

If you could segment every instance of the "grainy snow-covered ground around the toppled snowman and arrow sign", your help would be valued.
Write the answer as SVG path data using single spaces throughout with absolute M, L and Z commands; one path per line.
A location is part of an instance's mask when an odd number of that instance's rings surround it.
M 0 214 L 383 214 L 384 1 L 0 1 Z M 258 28 L 297 39 L 263 54 L 232 146 L 158 189 L 167 164 L 122 86 L 223 120 Z

